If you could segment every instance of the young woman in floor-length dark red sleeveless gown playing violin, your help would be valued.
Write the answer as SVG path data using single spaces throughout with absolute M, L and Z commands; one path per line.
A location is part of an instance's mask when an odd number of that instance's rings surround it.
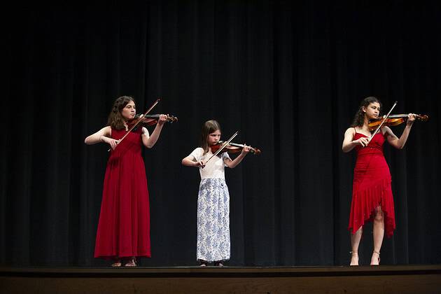
M 152 148 L 160 136 L 167 116 L 160 115 L 152 134 L 145 127 L 135 127 L 127 137 L 127 123 L 136 115 L 134 99 L 122 96 L 113 104 L 106 127 L 91 134 L 85 144 L 109 144 L 111 154 L 104 176 L 103 199 L 95 258 L 115 260 L 113 267 L 137 265 L 136 257 L 151 257 L 150 211 L 146 169 L 141 144 Z

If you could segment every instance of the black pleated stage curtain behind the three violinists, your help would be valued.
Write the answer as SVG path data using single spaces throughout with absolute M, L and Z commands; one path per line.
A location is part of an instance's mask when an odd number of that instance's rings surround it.
M 39 4 L 41 5 L 41 4 Z M 3 10 L 0 264 L 101 266 L 93 258 L 108 146 L 84 139 L 113 101 L 170 113 L 144 151 L 153 257 L 196 265 L 200 176 L 181 159 L 202 123 L 262 150 L 226 171 L 228 265 L 348 265 L 355 154 L 341 150 L 361 99 L 428 114 L 385 145 L 397 230 L 381 263 L 441 263 L 438 1 L 146 1 Z M 403 125 L 393 127 L 400 136 Z M 366 225 L 361 263 L 372 253 Z

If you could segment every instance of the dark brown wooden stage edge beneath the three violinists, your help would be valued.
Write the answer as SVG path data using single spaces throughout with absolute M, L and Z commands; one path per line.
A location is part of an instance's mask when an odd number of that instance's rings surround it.
M 0 293 L 441 293 L 441 265 L 0 267 Z

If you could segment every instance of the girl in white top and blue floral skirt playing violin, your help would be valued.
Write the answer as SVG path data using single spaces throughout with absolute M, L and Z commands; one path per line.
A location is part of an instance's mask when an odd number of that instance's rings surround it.
M 211 146 L 218 144 L 220 139 L 219 123 L 207 121 L 202 126 L 201 147 L 182 160 L 183 165 L 198 167 L 201 175 L 197 196 L 197 260 L 201 266 L 211 262 L 223 266 L 222 262 L 230 260 L 230 195 L 224 168 L 236 167 L 250 151 L 244 146 L 234 160 L 226 152 L 211 158 Z

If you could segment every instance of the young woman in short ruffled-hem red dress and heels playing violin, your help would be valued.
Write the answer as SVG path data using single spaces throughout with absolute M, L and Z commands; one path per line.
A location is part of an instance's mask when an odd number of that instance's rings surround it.
M 353 123 L 344 133 L 343 152 L 355 148 L 356 166 L 353 170 L 353 190 L 349 230 L 351 230 L 351 265 L 358 265 L 358 245 L 360 244 L 363 225 L 373 221 L 374 250 L 370 265 L 379 265 L 379 254 L 384 232 L 386 237 L 395 230 L 395 213 L 391 190 L 391 174 L 384 159 L 383 144 L 388 141 L 393 147 L 402 149 L 405 146 L 415 116 L 409 113 L 407 125 L 400 139 L 389 127 L 381 127 L 369 137 L 369 121 L 379 118 L 381 103 L 375 97 L 367 97 L 360 104 Z

